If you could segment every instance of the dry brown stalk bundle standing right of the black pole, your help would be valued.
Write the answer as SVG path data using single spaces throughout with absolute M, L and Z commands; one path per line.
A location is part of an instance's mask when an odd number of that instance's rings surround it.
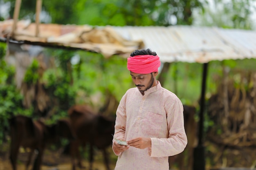
M 231 147 L 256 146 L 256 73 L 225 77 L 209 99 L 208 114 L 214 122 L 207 137 Z M 226 88 L 223 88 L 226 87 Z M 218 135 L 218 140 L 216 139 Z

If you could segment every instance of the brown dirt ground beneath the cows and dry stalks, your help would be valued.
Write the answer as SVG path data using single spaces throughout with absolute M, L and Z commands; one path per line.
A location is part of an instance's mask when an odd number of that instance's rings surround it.
M 223 148 L 218 145 L 206 142 L 206 170 L 213 170 L 223 167 L 256 167 L 256 148 L 230 149 Z M 112 152 L 112 148 L 108 149 L 110 153 L 110 168 L 114 170 L 117 156 Z M 24 149 L 20 149 L 17 161 L 17 170 L 25 170 L 25 162 L 28 153 Z M 102 153 L 95 152 L 93 170 L 106 170 L 103 163 Z M 88 159 L 83 159 L 85 169 L 77 168 L 77 170 L 88 170 Z M 32 166 L 29 167 L 31 170 Z M 9 161 L 8 145 L 0 146 L 0 170 L 12 170 Z M 71 158 L 69 155 L 60 154 L 60 152 L 45 150 L 41 170 L 72 170 Z M 173 167 L 173 170 L 178 168 Z

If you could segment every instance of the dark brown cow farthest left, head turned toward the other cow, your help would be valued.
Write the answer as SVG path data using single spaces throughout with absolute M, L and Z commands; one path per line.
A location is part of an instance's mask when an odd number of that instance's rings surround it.
M 33 170 L 40 170 L 46 144 L 55 142 L 60 137 L 74 139 L 70 122 L 67 120 L 59 120 L 54 126 L 47 126 L 40 120 L 33 121 L 30 117 L 17 115 L 9 119 L 9 126 L 11 137 L 10 161 L 13 170 L 16 170 L 16 161 L 21 146 L 31 149 L 25 165 L 26 170 L 29 167 L 34 150 L 37 151 L 37 154 Z

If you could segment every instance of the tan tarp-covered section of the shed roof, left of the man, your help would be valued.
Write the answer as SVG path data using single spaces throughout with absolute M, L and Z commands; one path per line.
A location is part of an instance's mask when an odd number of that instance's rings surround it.
M 36 31 L 38 29 L 38 31 Z M 81 49 L 101 53 L 108 58 L 118 54 L 129 56 L 142 48 L 142 41 L 130 41 L 105 26 L 74 24 L 36 24 L 20 20 L 13 30 L 13 20 L 0 21 L 0 41 L 16 44 L 32 44 L 67 49 Z

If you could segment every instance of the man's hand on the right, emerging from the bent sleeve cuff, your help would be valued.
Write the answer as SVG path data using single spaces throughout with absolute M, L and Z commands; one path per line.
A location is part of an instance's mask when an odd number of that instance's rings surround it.
M 145 149 L 151 147 L 151 139 L 149 137 L 137 137 L 127 141 L 127 144 L 135 148 Z

